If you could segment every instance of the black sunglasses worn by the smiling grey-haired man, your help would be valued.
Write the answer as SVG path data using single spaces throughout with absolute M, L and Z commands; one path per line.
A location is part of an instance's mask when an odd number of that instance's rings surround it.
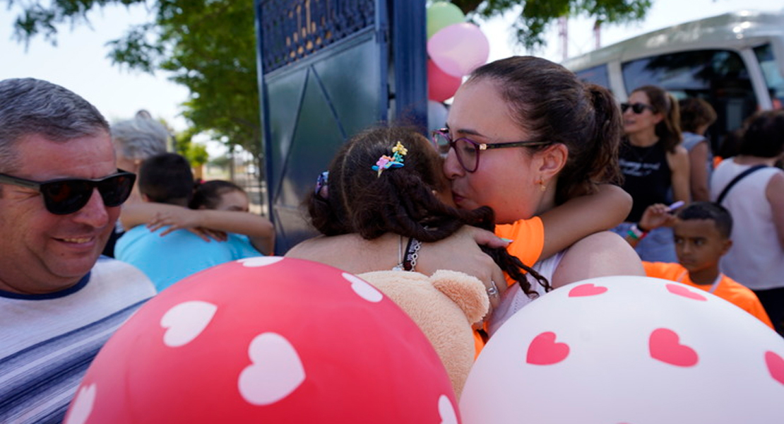
M 38 190 L 44 198 L 46 210 L 55 215 L 68 215 L 84 208 L 93 197 L 95 188 L 103 199 L 103 205 L 107 207 L 122 205 L 122 202 L 130 196 L 135 181 L 136 174 L 122 169 L 103 178 L 64 178 L 41 182 L 0 174 L 0 183 Z

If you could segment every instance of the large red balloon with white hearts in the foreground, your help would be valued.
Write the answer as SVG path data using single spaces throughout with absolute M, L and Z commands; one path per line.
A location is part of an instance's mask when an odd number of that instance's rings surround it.
M 419 328 L 352 274 L 301 259 L 214 266 L 158 294 L 100 351 L 67 424 L 457 423 Z

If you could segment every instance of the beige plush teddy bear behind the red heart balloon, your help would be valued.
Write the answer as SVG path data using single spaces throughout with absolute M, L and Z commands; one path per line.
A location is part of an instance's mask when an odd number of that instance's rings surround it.
M 406 271 L 359 274 L 408 313 L 441 357 L 457 397 L 474 364 L 471 324 L 488 312 L 485 284 L 458 271 L 438 270 L 427 277 Z

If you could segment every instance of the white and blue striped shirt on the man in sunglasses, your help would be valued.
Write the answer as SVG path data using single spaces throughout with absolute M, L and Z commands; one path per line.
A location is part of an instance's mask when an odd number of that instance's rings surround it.
M 103 256 L 63 291 L 0 291 L 0 422 L 62 422 L 103 343 L 154 294 L 141 271 Z

